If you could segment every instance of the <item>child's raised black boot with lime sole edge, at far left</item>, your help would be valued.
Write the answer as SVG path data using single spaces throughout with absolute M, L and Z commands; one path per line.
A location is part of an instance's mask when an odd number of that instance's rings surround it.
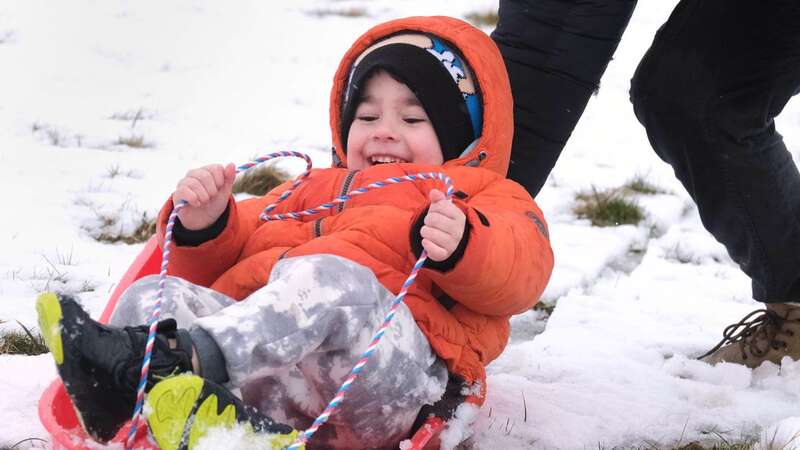
M 100 324 L 74 299 L 53 293 L 39 296 L 36 311 L 81 426 L 108 442 L 133 415 L 148 328 Z M 188 332 L 177 330 L 174 319 L 159 322 L 147 389 L 160 378 L 191 371 L 192 349 Z

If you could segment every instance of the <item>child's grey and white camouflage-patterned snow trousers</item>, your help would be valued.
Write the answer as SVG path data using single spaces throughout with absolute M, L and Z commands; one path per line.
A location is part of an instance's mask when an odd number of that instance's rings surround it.
M 111 323 L 146 323 L 157 290 L 157 276 L 131 285 Z M 199 328 L 219 344 L 245 403 L 305 429 L 361 357 L 393 298 L 366 267 L 312 255 L 281 260 L 266 286 L 241 302 L 168 277 L 162 317 L 191 326 L 195 339 Z M 420 407 L 442 396 L 447 377 L 401 305 L 391 331 L 309 448 L 396 448 Z

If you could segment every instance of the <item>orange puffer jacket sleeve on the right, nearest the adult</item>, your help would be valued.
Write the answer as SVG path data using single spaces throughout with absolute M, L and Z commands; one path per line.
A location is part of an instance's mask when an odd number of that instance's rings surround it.
M 522 186 L 502 180 L 455 203 L 469 222 L 469 241 L 448 271 L 425 269 L 447 295 L 475 312 L 518 314 L 539 300 L 553 270 L 541 210 Z

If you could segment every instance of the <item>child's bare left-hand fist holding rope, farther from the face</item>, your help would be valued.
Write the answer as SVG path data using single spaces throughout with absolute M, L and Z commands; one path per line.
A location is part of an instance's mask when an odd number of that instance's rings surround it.
M 213 225 L 228 206 L 235 179 L 233 164 L 225 167 L 212 164 L 187 172 L 172 194 L 175 205 L 181 200 L 189 202 L 178 212 L 183 226 L 189 230 L 202 230 Z

